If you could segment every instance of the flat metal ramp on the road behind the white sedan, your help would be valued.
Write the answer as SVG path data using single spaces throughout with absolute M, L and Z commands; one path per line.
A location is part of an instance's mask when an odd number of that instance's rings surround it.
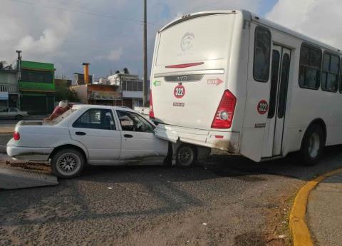
M 0 163 L 0 189 L 14 190 L 58 185 L 55 176 L 50 175 L 46 170 L 37 168 L 37 166 L 34 165 L 32 168 L 29 164 L 23 163 L 20 165 Z

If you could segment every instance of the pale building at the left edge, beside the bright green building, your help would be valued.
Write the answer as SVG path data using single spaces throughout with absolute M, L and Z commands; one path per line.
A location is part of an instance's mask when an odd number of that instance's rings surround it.
M 17 70 L 11 66 L 0 69 L 0 108 L 20 108 Z

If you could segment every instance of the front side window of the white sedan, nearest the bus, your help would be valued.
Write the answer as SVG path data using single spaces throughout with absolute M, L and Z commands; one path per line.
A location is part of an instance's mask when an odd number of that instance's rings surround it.
M 141 133 L 153 133 L 154 126 L 145 118 L 129 111 L 116 111 L 120 121 L 121 128 L 127 131 L 135 131 Z

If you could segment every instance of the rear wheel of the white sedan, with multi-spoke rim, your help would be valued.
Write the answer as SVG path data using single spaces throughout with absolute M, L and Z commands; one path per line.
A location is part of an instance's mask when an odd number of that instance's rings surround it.
M 81 174 L 86 163 L 81 151 L 73 148 L 58 150 L 51 158 L 53 175 L 58 178 L 74 178 Z

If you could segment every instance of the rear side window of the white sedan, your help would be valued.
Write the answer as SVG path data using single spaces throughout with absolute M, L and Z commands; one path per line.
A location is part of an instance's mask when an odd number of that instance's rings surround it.
M 116 130 L 112 111 L 109 109 L 89 109 L 73 123 L 74 128 Z

